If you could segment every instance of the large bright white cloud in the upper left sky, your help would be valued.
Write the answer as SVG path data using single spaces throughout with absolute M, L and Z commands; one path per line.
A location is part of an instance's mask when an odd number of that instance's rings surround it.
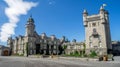
M 14 30 L 19 21 L 19 16 L 26 15 L 32 7 L 37 6 L 37 3 L 23 0 L 4 0 L 4 2 L 8 5 L 5 8 L 5 14 L 9 20 L 0 27 L 0 40 L 2 42 L 6 42 L 8 37 L 15 34 Z

